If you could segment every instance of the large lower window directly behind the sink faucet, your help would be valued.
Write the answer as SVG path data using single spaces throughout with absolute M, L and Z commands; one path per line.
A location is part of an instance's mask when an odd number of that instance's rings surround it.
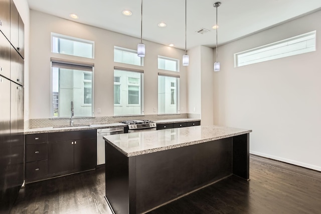
M 69 118 L 71 101 L 74 117 L 93 116 L 93 64 L 51 58 L 52 117 Z

